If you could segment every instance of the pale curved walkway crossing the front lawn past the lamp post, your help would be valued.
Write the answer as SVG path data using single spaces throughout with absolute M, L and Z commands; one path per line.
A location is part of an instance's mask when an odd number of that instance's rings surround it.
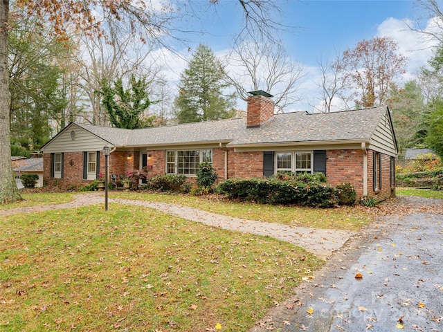
M 96 205 L 100 203 L 104 203 L 102 193 L 87 193 L 77 195 L 76 199 L 69 203 L 0 210 L 0 216 L 7 216 L 17 213 L 32 213 L 47 210 L 79 208 L 81 206 Z M 240 219 L 171 203 L 135 201 L 130 199 L 109 199 L 109 203 L 153 208 L 161 212 L 179 216 L 183 219 L 188 219 L 198 223 L 205 223 L 206 225 L 211 225 L 226 230 L 235 230 L 239 232 L 248 232 L 251 234 L 273 237 L 275 239 L 296 244 L 296 246 L 305 248 L 307 251 L 323 259 L 332 255 L 332 252 L 340 249 L 343 244 L 353 234 L 355 234 L 354 232 L 347 230 L 307 228 L 282 225 L 279 223 L 267 223 L 264 221 Z

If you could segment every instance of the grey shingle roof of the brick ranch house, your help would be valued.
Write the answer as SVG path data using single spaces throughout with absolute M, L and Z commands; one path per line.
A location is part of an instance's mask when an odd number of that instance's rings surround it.
M 386 111 L 386 107 L 373 107 L 333 113 L 282 113 L 275 114 L 262 127 L 248 129 L 246 129 L 246 118 L 134 130 L 98 127 L 91 124 L 78 124 L 78 126 L 118 147 L 197 142 L 230 142 L 228 145 L 249 145 L 369 140 Z

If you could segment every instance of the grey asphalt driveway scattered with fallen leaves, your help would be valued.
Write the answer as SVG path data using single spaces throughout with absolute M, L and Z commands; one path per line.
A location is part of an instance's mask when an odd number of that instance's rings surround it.
M 443 331 L 443 201 L 405 200 L 436 213 L 379 218 L 253 331 Z

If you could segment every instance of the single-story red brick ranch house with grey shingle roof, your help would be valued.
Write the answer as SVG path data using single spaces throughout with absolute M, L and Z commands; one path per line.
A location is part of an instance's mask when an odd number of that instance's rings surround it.
M 395 195 L 397 142 L 388 107 L 274 114 L 271 95 L 251 94 L 246 118 L 134 130 L 70 123 L 42 147 L 44 181 L 91 182 L 105 173 L 108 145 L 109 174 L 147 167 L 150 177 L 192 179 L 199 163 L 209 161 L 218 181 L 322 172 L 332 185 L 351 183 L 360 197 Z

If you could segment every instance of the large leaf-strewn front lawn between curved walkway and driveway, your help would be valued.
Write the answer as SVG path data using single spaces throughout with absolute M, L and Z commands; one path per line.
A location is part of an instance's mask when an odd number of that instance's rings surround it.
M 322 265 L 291 243 L 129 205 L 3 217 L 0 330 L 247 331 Z

